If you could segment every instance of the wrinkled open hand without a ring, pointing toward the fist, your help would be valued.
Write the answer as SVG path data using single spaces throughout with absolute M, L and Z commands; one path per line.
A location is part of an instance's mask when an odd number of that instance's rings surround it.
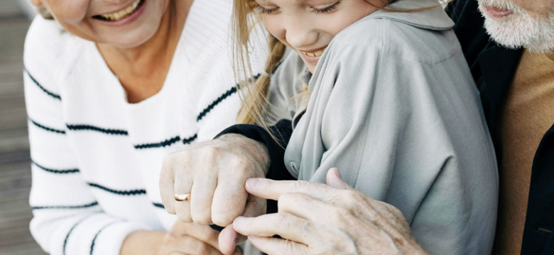
M 355 191 L 337 169 L 327 184 L 249 179 L 246 191 L 278 200 L 279 212 L 237 217 L 233 228 L 271 255 L 425 254 L 398 209 Z

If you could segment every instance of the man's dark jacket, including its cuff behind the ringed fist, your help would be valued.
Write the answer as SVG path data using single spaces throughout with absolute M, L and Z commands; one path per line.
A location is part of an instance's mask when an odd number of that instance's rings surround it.
M 454 1 L 447 6 L 447 13 L 456 23 L 454 30 L 481 93 L 496 157 L 498 162 L 501 162 L 499 135 L 494 132 L 494 127 L 499 120 L 500 109 L 504 105 L 504 99 L 514 79 L 523 51 L 506 49 L 489 39 L 489 35 L 484 30 L 484 19 L 477 9 L 477 0 Z M 271 167 L 267 177 L 278 180 L 292 179 L 283 162 L 284 147 L 290 139 L 292 125 L 290 121 L 283 120 L 272 127 L 271 132 L 278 136 L 282 146 L 278 145 L 266 130 L 256 125 L 234 125 L 224 130 L 222 134 L 240 133 L 264 142 L 271 157 Z M 276 208 L 272 208 L 271 211 L 275 210 Z M 554 255 L 552 229 L 554 229 L 554 126 L 543 137 L 533 161 L 521 254 Z

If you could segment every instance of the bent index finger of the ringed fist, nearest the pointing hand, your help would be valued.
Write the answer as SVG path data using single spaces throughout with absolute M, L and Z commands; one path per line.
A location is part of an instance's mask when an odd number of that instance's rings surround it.
M 244 212 L 248 193 L 244 190 L 244 177 L 226 171 L 217 177 L 217 188 L 212 200 L 212 222 L 227 227 Z

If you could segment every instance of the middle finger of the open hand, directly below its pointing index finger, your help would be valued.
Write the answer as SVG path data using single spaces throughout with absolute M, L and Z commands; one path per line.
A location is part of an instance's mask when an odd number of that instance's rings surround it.
M 239 234 L 256 237 L 279 236 L 300 242 L 313 243 L 313 227 L 308 220 L 287 212 L 278 212 L 258 217 L 237 217 L 233 229 Z

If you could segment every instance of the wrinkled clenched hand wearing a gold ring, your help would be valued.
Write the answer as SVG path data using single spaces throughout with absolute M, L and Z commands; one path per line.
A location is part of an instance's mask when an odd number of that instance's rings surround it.
M 183 222 L 226 227 L 220 248 L 230 254 L 240 237 L 227 226 L 238 216 L 266 212 L 266 200 L 249 197 L 244 183 L 265 177 L 269 163 L 265 145 L 235 134 L 174 152 L 163 160 L 160 174 L 163 205 Z M 175 193 L 190 193 L 190 200 L 176 201 Z

